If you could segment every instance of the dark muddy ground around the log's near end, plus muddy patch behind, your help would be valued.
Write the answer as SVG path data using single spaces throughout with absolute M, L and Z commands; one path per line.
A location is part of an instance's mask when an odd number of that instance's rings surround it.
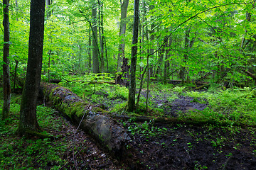
M 193 98 L 184 96 L 170 103 L 168 97 L 154 97 L 155 107 L 164 108 L 166 115 L 207 107 L 207 103 L 192 102 Z M 120 123 L 132 138 L 122 159 L 111 157 L 79 131 L 76 143 L 85 149 L 75 157 L 76 163 L 72 152 L 63 155 L 69 160 L 63 169 L 256 169 L 255 128 L 133 120 Z M 63 131 L 72 129 L 65 127 Z

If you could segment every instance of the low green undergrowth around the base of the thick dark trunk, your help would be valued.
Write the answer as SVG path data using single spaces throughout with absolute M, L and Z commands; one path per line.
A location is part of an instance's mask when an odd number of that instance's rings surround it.
M 68 148 L 72 148 L 72 142 L 67 142 L 62 137 L 58 140 L 59 136 L 55 136 L 54 141 L 38 137 L 18 137 L 16 130 L 20 99 L 19 96 L 12 96 L 9 119 L 6 123 L 0 122 L 0 169 L 60 169 L 67 163 L 63 154 Z M 2 104 L 2 101 L 0 103 Z M 52 108 L 37 107 L 41 128 L 60 131 L 63 122 L 55 117 L 55 110 Z M 50 135 L 46 131 L 43 133 Z

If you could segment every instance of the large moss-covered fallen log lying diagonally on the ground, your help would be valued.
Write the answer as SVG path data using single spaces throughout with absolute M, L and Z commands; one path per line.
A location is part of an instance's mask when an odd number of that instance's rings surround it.
M 41 83 L 43 94 L 65 117 L 88 132 L 114 156 L 122 156 L 125 146 L 130 140 L 126 130 L 107 115 L 102 115 L 102 109 L 91 106 L 72 91 L 56 84 Z

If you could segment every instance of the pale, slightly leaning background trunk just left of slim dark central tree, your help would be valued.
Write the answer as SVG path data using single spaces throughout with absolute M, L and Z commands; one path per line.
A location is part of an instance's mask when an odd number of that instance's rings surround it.
M 117 72 L 121 71 L 121 65 L 122 65 L 122 58 L 124 58 L 124 36 L 125 36 L 125 30 L 126 30 L 126 21 L 125 18 L 127 18 L 127 8 L 129 4 L 129 0 L 123 0 L 120 1 L 121 5 L 121 18 L 120 18 L 120 30 L 119 30 L 119 37 L 122 39 L 119 44 L 118 49 L 118 57 L 117 57 Z

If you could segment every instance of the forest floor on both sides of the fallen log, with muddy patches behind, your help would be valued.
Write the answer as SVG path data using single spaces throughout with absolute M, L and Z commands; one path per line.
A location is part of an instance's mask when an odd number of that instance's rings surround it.
M 120 99 L 111 101 L 105 93 L 100 104 L 107 110 Z M 142 96 L 146 95 L 143 91 Z M 151 107 L 164 110 L 161 116 L 177 117 L 203 111 L 207 101 L 166 91 L 150 91 Z M 107 101 L 107 103 L 106 103 Z M 96 104 L 96 102 L 95 102 Z M 99 101 L 97 101 L 99 104 Z M 16 106 L 15 106 L 16 107 Z M 49 108 L 50 109 L 50 108 Z M 196 110 L 195 110 L 196 109 Z M 41 111 L 43 110 L 43 111 Z M 16 137 L 18 113 L 11 113 L 9 127 L 0 126 L 0 169 L 255 169 L 256 134 L 254 126 L 217 124 L 137 122 L 119 120 L 132 140 L 127 156 L 117 160 L 97 146 L 90 136 L 77 130 L 60 113 L 38 109 L 42 128 L 54 141 Z M 42 115 L 41 115 L 42 114 Z M 50 118 L 49 118 L 50 117 Z M 15 120 L 14 120 L 15 119 Z M 44 123 L 44 121 L 47 123 Z M 51 123 L 53 122 L 53 123 Z

